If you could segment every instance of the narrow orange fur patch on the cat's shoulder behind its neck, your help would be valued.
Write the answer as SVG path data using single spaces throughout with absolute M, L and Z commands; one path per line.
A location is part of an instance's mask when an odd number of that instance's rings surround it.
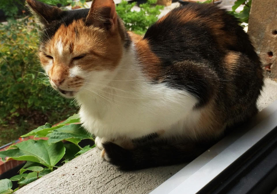
M 160 59 L 151 51 L 148 41 L 141 36 L 128 32 L 138 53 L 138 59 L 145 76 L 150 80 L 160 77 Z

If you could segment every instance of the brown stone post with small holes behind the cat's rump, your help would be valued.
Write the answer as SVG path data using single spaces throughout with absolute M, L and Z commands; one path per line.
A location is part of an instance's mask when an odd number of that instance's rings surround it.
M 277 3 L 276 0 L 253 0 L 248 34 L 263 63 L 265 74 L 277 78 Z M 269 72 L 270 71 L 270 72 Z

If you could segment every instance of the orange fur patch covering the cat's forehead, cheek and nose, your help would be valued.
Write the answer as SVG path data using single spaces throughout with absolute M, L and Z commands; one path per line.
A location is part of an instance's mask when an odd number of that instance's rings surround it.
M 45 45 L 45 52 L 47 55 L 53 55 L 54 69 L 57 66 L 71 67 L 70 57 L 86 54 L 86 57 L 78 61 L 78 66 L 82 70 L 98 71 L 114 69 L 118 65 L 123 52 L 121 44 L 118 31 L 109 34 L 98 27 L 85 26 L 83 20 L 77 20 L 68 26 L 61 25 L 54 37 Z M 43 65 L 47 64 L 48 60 L 43 54 L 40 54 L 40 59 Z M 53 71 L 58 70 L 59 74 L 66 72 L 66 68 Z

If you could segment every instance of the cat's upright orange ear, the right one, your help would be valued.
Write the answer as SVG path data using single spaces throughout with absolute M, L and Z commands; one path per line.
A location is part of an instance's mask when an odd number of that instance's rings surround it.
M 85 24 L 114 32 L 118 24 L 113 0 L 93 0 Z

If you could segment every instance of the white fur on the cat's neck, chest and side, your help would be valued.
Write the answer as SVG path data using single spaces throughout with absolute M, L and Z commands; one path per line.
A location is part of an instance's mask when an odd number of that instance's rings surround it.
M 164 137 L 190 135 L 200 112 L 197 99 L 164 83 L 151 84 L 143 75 L 132 44 L 112 71 L 79 72 L 85 85 L 76 94 L 83 126 L 96 136 L 130 139 L 163 131 Z M 70 74 L 76 74 L 72 69 Z

